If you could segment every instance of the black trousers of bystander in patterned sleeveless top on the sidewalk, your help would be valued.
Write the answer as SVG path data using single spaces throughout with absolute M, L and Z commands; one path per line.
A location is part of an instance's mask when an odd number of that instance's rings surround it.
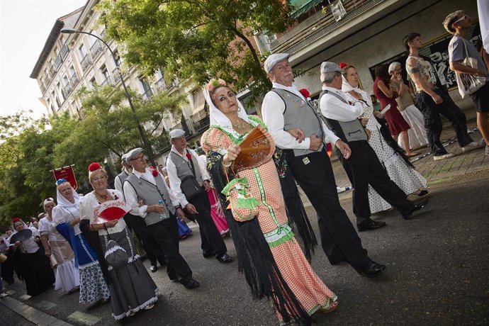
M 415 101 L 417 108 L 420 109 L 425 118 L 425 128 L 431 152 L 434 155 L 442 155 L 446 154 L 446 150 L 440 142 L 443 129 L 440 114 L 450 121 L 461 147 L 473 140 L 467 133 L 467 119 L 459 106 L 456 106 L 451 97 L 441 89 L 435 87 L 433 91 L 443 99 L 442 103 L 434 103 L 432 97 L 424 91 L 417 93 Z

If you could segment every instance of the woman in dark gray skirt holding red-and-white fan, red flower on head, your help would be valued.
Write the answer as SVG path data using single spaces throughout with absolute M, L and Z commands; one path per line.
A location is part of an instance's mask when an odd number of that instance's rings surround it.
M 158 288 L 148 274 L 140 256 L 135 251 L 133 237 L 126 227 L 124 219 L 101 220 L 99 210 L 103 203 L 108 201 L 124 201 L 123 194 L 115 189 L 107 189 L 107 173 L 99 163 L 89 165 L 89 181 L 94 189 L 80 200 L 80 228 L 84 233 L 91 233 L 96 237 L 94 247 L 105 255 L 100 259 L 108 265 L 108 274 L 111 278 L 112 316 L 116 320 L 134 315 L 142 309 L 151 309 L 157 302 Z M 97 241 L 98 240 L 98 241 Z M 108 256 L 116 250 L 108 249 L 110 240 L 116 242 L 116 247 L 122 248 L 127 259 L 120 265 L 109 264 Z

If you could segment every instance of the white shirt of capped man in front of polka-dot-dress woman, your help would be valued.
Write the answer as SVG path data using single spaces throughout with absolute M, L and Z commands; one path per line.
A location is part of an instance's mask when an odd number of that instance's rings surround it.
M 321 97 L 319 107 L 321 109 L 321 114 L 326 118 L 341 122 L 348 122 L 355 120 L 364 114 L 364 106 L 362 106 L 361 101 L 356 101 L 350 105 L 343 91 L 329 86 L 322 86 L 322 90 L 338 94 L 342 97 L 342 99 L 344 99 L 344 101 L 347 101 L 347 103 L 344 103 L 336 96 L 331 94 L 323 95 Z

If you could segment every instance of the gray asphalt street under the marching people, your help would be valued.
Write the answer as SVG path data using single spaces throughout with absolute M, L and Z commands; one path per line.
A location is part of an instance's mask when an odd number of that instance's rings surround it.
M 478 132 L 472 135 L 480 138 Z M 448 128 L 442 139 L 453 136 Z M 467 153 L 456 143 L 446 148 L 457 156 L 434 162 L 428 155 L 414 162 L 432 190 L 425 208 L 412 220 L 395 210 L 373 215 L 387 226 L 359 233 L 372 259 L 388 266 L 383 276 L 366 279 L 348 264 L 331 266 L 320 245 L 316 248 L 312 266 L 339 297 L 334 313 L 313 316 L 317 325 L 489 325 L 489 162 L 483 148 Z M 333 161 L 338 186 L 349 186 L 341 164 Z M 351 191 L 339 196 L 354 221 Z M 305 205 L 319 237 L 315 211 L 308 201 Z M 225 242 L 236 257 L 232 240 Z M 0 299 L 0 325 L 277 325 L 271 305 L 252 300 L 237 262 L 202 257 L 196 225 L 180 244 L 201 287 L 186 290 L 159 269 L 151 274 L 160 289 L 152 310 L 116 322 L 110 303 L 80 305 L 78 293 L 53 290 L 29 298 L 16 280 L 4 284 L 11 295 L 8 304 Z M 55 317 L 57 324 L 28 321 L 23 310 L 15 311 L 15 302 Z

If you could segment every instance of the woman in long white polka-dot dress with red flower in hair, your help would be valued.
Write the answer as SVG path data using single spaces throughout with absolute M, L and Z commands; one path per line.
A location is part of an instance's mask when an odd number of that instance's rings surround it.
M 359 88 L 359 78 L 355 67 L 347 65 L 343 68 L 343 71 L 342 91 L 347 95 L 349 101 L 361 101 L 364 106 L 363 118 L 369 119 L 366 128 L 371 132 L 369 145 L 373 148 L 378 160 L 386 168 L 390 179 L 405 193 L 416 193 L 420 195 L 415 196 L 416 199 L 427 196 L 427 190 L 422 189 L 427 185 L 426 179 L 412 167 L 412 164 L 410 164 L 407 158 L 403 157 L 400 152 L 394 150 L 392 146 L 397 146 L 395 141 L 391 138 L 391 142 L 394 143 L 389 144 L 382 135 L 381 124 L 378 123 L 373 113 L 371 98 L 366 91 Z M 378 115 L 379 113 L 375 114 Z M 371 213 L 392 208 L 390 203 L 385 201 L 371 186 L 369 186 L 369 203 Z

